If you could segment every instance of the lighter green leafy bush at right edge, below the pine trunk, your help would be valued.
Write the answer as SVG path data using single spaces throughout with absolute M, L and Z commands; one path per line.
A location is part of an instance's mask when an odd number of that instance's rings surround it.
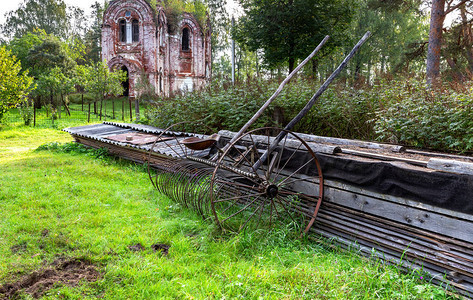
M 379 87 L 382 109 L 374 118 L 379 139 L 414 147 L 473 150 L 473 87 L 425 90 L 421 80 Z

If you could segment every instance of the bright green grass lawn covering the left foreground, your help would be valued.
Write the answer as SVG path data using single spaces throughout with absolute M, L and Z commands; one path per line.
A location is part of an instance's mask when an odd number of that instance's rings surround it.
M 0 127 L 0 299 L 15 283 L 18 299 L 453 298 L 421 274 L 297 239 L 290 224 L 222 235 L 153 190 L 141 166 L 71 141 Z M 50 142 L 60 146 L 36 150 Z M 45 270 L 54 280 L 33 288 Z

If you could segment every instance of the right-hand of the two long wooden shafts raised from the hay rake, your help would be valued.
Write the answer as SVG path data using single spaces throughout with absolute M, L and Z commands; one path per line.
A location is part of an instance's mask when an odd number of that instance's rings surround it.
M 332 75 L 330 75 L 330 77 L 327 80 L 325 80 L 324 84 L 320 86 L 319 90 L 314 94 L 314 96 L 312 96 L 312 98 L 309 100 L 309 102 L 307 102 L 304 108 L 297 114 L 297 116 L 294 117 L 294 119 L 291 120 L 291 122 L 289 122 L 289 124 L 286 125 L 286 127 L 284 127 L 285 130 L 292 130 L 292 128 L 294 128 L 297 122 L 299 122 L 309 112 L 309 110 L 312 108 L 312 106 L 314 106 L 315 102 L 320 97 L 320 95 L 322 95 L 322 93 L 325 92 L 325 90 L 327 90 L 330 83 L 332 83 L 335 77 L 337 77 L 342 72 L 342 70 L 347 66 L 350 59 L 352 59 L 355 53 L 360 49 L 360 47 L 366 42 L 366 40 L 370 36 L 371 36 L 371 32 L 367 31 L 365 35 L 358 41 L 355 47 L 353 47 L 351 52 L 345 57 L 345 59 L 338 66 L 338 68 L 332 73 Z M 263 163 L 263 161 L 265 161 L 268 158 L 269 154 L 271 154 L 271 152 L 273 152 L 274 149 L 276 149 L 279 142 L 281 142 L 282 139 L 287 135 L 287 131 L 285 130 L 281 131 L 278 134 L 278 136 L 274 139 L 271 145 L 269 145 L 268 149 L 263 153 L 260 159 L 258 159 L 258 161 L 253 165 L 253 169 L 258 170 L 261 164 Z

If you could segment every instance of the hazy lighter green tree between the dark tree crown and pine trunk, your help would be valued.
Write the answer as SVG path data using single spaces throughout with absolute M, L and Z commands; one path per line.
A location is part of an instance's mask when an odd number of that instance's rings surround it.
M 373 34 L 350 64 L 353 79 L 369 79 L 374 71 L 394 73 L 413 69 L 413 59 L 419 56 L 409 53 L 415 45 L 425 45 L 422 41 L 428 34 L 427 19 L 420 12 L 419 3 L 370 0 L 360 1 L 359 7 L 351 30 L 352 40 L 367 30 Z M 351 47 L 347 45 L 345 52 Z

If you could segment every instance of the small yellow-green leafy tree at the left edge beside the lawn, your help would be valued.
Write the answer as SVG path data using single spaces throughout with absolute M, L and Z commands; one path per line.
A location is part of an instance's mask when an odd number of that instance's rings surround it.
M 0 47 L 0 121 L 9 108 L 20 104 L 34 88 L 33 78 L 21 72 L 21 63 Z

